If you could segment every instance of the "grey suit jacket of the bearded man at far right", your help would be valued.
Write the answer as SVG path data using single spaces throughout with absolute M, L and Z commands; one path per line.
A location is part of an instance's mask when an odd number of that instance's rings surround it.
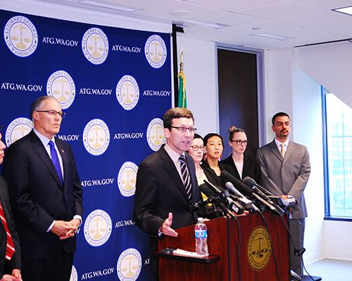
M 294 219 L 306 218 L 304 190 L 310 175 L 308 150 L 305 146 L 289 141 L 286 155 L 282 155 L 274 141 L 257 150 L 263 172 L 263 187 L 276 196 L 292 195 L 298 204 L 292 207 Z

